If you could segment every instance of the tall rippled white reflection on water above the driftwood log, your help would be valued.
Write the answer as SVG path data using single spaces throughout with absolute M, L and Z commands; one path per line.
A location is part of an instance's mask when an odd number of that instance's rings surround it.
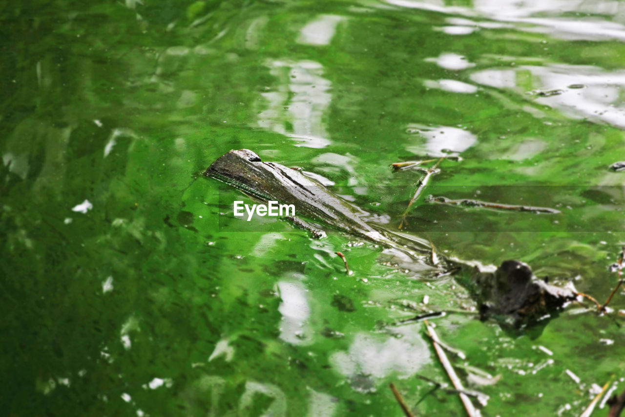
M 258 125 L 291 137 L 297 146 L 329 145 L 324 116 L 332 96 L 330 81 L 322 77 L 323 66 L 306 60 L 269 61 L 267 66 L 277 86 L 261 93 L 268 106 L 259 113 Z

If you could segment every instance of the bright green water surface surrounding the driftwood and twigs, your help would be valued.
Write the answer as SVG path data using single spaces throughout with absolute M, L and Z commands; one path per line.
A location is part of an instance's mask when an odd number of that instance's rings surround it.
M 625 173 L 607 169 L 625 160 L 623 11 L 0 5 L 2 414 L 401 416 L 393 382 L 418 415 L 462 415 L 456 394 L 416 377 L 448 382 L 423 324 L 396 324 L 413 304 L 474 306 L 462 287 L 388 267 L 347 235 L 234 220 L 241 194 L 198 175 L 249 148 L 394 229 L 419 173 L 389 165 L 454 152 L 426 194 L 562 214 L 421 198 L 404 231 L 462 259 L 524 260 L 604 301 L 625 243 Z M 463 383 L 489 396 L 474 401 L 483 415 L 576 416 L 593 384 L 625 376 L 622 290 L 611 307 L 571 306 L 521 333 L 467 314 L 433 322 L 466 354 L 451 358 Z M 481 384 L 466 366 L 501 378 Z

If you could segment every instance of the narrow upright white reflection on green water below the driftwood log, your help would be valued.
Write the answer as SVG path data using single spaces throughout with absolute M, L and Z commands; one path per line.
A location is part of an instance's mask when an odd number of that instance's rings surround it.
M 282 302 L 278 311 L 282 314 L 280 339 L 292 344 L 309 344 L 310 329 L 307 324 L 311 309 L 308 306 L 306 287 L 301 282 L 277 283 Z

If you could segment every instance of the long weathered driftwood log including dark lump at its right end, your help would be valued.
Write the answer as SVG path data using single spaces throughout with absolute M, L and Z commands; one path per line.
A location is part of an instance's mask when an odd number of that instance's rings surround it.
M 427 175 L 422 178 L 406 214 L 412 203 L 422 195 L 427 181 L 437 172 L 443 159 L 437 160 L 427 170 Z M 427 249 L 420 247 L 422 242 L 419 239 L 384 229 L 380 225 L 368 224 L 361 217 L 362 210 L 356 206 L 345 202 L 299 171 L 279 163 L 263 162 L 251 150 L 227 152 L 212 163 L 204 175 L 226 182 L 259 200 L 278 200 L 282 204 L 292 204 L 296 215 L 402 252 L 410 258 L 402 264 L 402 268 L 414 267 L 419 272 L 431 270 L 432 274 L 436 269 L 466 271 L 465 275 L 471 281 L 466 284 L 473 289 L 472 293 L 480 306 L 482 317 L 508 316 L 515 326 L 520 326 L 546 316 L 577 296 L 570 289 L 551 286 L 537 279 L 528 265 L 517 260 L 504 261 L 496 272 L 482 272 L 471 262 L 442 255 L 439 259 L 429 245 Z

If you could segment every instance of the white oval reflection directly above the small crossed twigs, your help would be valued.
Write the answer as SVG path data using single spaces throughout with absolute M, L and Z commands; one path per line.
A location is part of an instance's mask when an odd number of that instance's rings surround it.
M 464 152 L 477 142 L 477 137 L 470 131 L 451 126 L 425 126 L 412 123 L 407 126 L 406 131 L 416 135 L 415 142 L 421 142 L 406 147 L 407 151 L 415 155 L 442 157 L 450 151 Z

